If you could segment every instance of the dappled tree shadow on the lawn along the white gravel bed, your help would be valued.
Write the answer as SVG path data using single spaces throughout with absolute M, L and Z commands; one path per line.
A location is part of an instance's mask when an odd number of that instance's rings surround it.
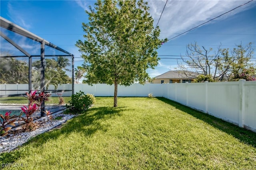
M 107 125 L 100 122 L 119 116 L 125 107 L 98 107 L 88 109 L 85 113 L 78 115 L 68 121 L 62 128 L 38 135 L 24 144 L 32 145 L 33 148 L 41 147 L 48 140 L 57 140 L 58 137 L 68 136 L 72 132 L 84 133 L 85 136 L 91 136 L 98 130 L 107 131 Z M 21 147 L 9 153 L 0 154 L 0 164 L 13 163 L 18 158 L 25 156 L 26 150 Z

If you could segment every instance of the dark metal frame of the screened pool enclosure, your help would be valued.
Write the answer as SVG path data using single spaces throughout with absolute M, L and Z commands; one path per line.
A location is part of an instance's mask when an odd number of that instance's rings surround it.
M 74 94 L 74 55 L 69 53 L 68 51 L 65 51 L 64 49 L 50 43 L 49 41 L 46 41 L 45 39 L 31 33 L 30 31 L 6 20 L 5 18 L 2 18 L 0 16 L 0 26 L 2 28 L 8 29 L 14 33 L 17 33 L 19 35 L 22 35 L 24 37 L 27 37 L 29 39 L 32 39 L 34 41 L 37 41 L 41 44 L 41 51 L 40 51 L 40 55 L 30 55 L 30 53 L 28 53 L 25 49 L 23 49 L 22 47 L 20 47 L 17 43 L 15 43 L 14 41 L 12 41 L 12 39 L 10 39 L 7 35 L 5 35 L 2 31 L 0 31 L 0 35 L 1 37 L 3 37 L 6 41 L 8 41 L 10 44 L 12 44 L 14 47 L 16 47 L 19 51 L 21 51 L 24 55 L 22 56 L 1 56 L 1 58 L 5 58 L 5 57 L 28 57 L 28 91 L 31 92 L 32 90 L 32 57 L 40 57 L 40 89 L 41 92 L 45 92 L 45 82 L 44 82 L 44 72 L 45 72 L 45 60 L 44 57 L 58 57 L 58 56 L 62 56 L 62 57 L 72 57 L 72 94 Z M 65 53 L 66 55 L 45 55 L 44 54 L 44 50 L 45 50 L 45 45 L 47 45 L 48 47 L 54 48 L 58 51 L 61 51 L 62 53 Z M 62 90 L 60 90 L 62 91 Z M 70 91 L 70 90 L 66 90 L 66 91 Z M 58 92 L 58 90 L 55 90 L 54 92 Z M 23 94 L 14 94 L 14 95 L 5 95 L 5 96 L 20 96 Z M 1 96 L 4 97 L 4 96 Z M 41 117 L 44 116 L 44 102 L 42 102 L 41 105 Z

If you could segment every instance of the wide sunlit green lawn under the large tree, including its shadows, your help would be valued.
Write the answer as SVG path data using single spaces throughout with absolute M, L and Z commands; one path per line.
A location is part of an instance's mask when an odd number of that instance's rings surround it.
M 61 129 L 1 154 L 0 163 L 29 170 L 256 169 L 256 133 L 164 98 L 118 98 L 117 108 L 112 102 L 96 98 Z

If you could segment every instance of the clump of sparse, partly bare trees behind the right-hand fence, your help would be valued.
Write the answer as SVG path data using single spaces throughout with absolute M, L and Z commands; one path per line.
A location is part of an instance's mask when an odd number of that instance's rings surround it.
M 195 42 L 187 45 L 186 57 L 181 57 L 182 63 L 178 65 L 188 78 L 204 76 L 211 77 L 215 81 L 238 80 L 243 72 L 248 73 L 250 70 L 253 74 L 255 70 L 251 62 L 253 52 L 252 43 L 245 46 L 241 43 L 233 49 L 221 49 L 219 46 L 213 52 L 212 48 L 206 49 L 204 46 L 200 48 Z M 188 70 L 191 72 L 187 72 Z

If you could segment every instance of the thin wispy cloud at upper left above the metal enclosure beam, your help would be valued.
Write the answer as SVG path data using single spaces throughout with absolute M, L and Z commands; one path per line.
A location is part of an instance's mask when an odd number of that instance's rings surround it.
M 20 27 L 25 29 L 30 29 L 32 25 L 30 25 L 24 18 L 29 18 L 24 16 L 25 14 L 20 12 L 20 9 L 14 8 L 10 3 L 8 3 L 8 16 L 13 20 L 13 22 Z

